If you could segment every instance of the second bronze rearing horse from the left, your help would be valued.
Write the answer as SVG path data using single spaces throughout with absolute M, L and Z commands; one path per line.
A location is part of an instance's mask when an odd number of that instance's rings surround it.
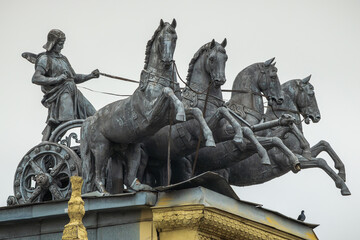
M 226 82 L 225 63 L 228 59 L 225 51 L 226 45 L 226 39 L 222 43 L 212 40 L 200 47 L 194 54 L 189 64 L 187 83 L 182 92 L 182 102 L 186 109 L 193 107 L 201 109 L 203 111 L 201 114 L 204 115 L 212 131 L 217 129 L 221 119 L 226 119 L 234 129 L 233 140 L 242 144 L 243 134 L 240 124 L 223 106 L 221 85 Z M 196 150 L 200 134 L 198 125 L 190 120 L 166 126 L 154 136 L 147 138 L 143 142 L 143 150 L 148 159 L 143 164 L 143 171 L 138 174 L 139 178 L 142 179 L 146 172 L 146 182 L 151 182 L 152 186 L 165 185 L 169 177 L 166 171 L 168 154 L 172 161 L 191 154 Z M 214 137 L 216 139 L 216 135 Z M 204 143 L 201 143 L 200 146 L 204 147 Z M 169 152 L 168 144 L 171 146 Z M 153 176 L 151 180 L 150 175 Z

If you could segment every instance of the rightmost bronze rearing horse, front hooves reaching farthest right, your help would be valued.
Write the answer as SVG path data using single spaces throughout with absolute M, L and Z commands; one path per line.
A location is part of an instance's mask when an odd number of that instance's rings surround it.
M 310 120 L 317 123 L 321 119 L 320 111 L 317 105 L 314 87 L 309 82 L 310 76 L 304 79 L 290 80 L 282 84 L 285 99 L 281 106 L 273 106 L 266 111 L 266 119 L 275 119 L 277 116 L 286 113 L 296 119 L 297 127 L 302 132 L 302 121 L 300 115 L 304 117 L 305 123 L 309 124 Z M 266 135 L 278 135 L 286 146 L 297 154 L 300 161 L 301 169 L 320 168 L 324 170 L 335 182 L 341 194 L 350 195 L 350 191 L 345 184 L 345 166 L 330 144 L 321 140 L 315 146 L 310 148 L 311 157 L 302 156 L 303 149 L 300 146 L 298 138 L 293 133 L 287 133 L 283 129 L 267 130 Z M 335 163 L 335 168 L 339 170 L 336 174 L 329 167 L 323 158 L 317 158 L 318 154 L 326 151 Z M 235 186 L 249 186 L 270 181 L 276 177 L 286 174 L 290 171 L 291 165 L 277 150 L 269 152 L 271 157 L 271 166 L 258 164 L 257 156 L 253 155 L 244 161 L 241 161 L 228 169 L 229 183 Z

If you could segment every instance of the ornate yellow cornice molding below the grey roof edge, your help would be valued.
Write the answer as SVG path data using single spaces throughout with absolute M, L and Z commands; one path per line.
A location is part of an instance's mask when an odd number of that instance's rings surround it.
M 179 230 L 195 231 L 196 234 L 193 234 L 195 236 L 194 240 L 303 239 L 203 205 L 153 208 L 152 211 L 155 228 L 160 233 L 160 240 L 167 240 L 162 239 L 162 232 L 169 233 Z M 174 236 L 172 236 L 172 239 L 174 239 Z M 178 239 L 182 238 L 179 237 Z

